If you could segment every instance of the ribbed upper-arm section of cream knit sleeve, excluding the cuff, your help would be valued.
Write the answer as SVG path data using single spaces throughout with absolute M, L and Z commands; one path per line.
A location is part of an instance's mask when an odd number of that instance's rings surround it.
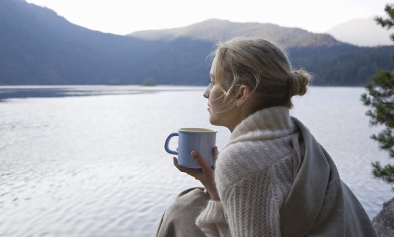
M 231 236 L 281 236 L 283 196 L 271 170 L 251 174 L 222 197 Z

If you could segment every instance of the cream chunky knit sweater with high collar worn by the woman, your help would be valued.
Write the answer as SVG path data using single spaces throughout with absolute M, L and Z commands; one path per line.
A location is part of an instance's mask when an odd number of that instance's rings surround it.
M 294 182 L 286 107 L 260 110 L 243 120 L 216 161 L 220 202 L 210 200 L 196 224 L 207 236 L 280 236 L 279 210 Z

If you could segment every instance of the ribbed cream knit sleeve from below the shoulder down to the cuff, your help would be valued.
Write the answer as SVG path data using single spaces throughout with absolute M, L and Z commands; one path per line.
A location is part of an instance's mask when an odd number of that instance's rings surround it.
M 221 201 L 209 201 L 196 221 L 207 236 L 281 236 L 283 192 L 272 170 L 250 174 L 222 190 Z

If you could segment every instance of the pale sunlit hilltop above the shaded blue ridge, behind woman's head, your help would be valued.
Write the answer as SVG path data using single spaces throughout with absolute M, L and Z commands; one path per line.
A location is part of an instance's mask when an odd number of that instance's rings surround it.
M 169 41 L 183 37 L 210 42 L 249 36 L 264 37 L 284 47 L 343 45 L 328 34 L 314 34 L 303 29 L 281 27 L 271 23 L 239 23 L 219 19 L 209 19 L 173 29 L 137 31 L 128 36 L 144 40 Z

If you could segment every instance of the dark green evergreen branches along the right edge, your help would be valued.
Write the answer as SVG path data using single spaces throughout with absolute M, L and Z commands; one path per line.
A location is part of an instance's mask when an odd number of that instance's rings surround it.
M 376 17 L 375 20 L 383 27 L 390 29 L 394 25 L 394 5 L 386 5 L 387 19 Z M 394 41 L 394 34 L 391 35 Z M 394 58 L 394 54 L 392 56 Z M 368 94 L 364 93 L 361 100 L 371 109 L 366 115 L 370 117 L 372 125 L 383 125 L 384 129 L 377 135 L 371 136 L 379 143 L 383 150 L 389 152 L 390 158 L 394 158 L 394 72 L 379 70 L 366 85 Z M 385 182 L 394 184 L 394 166 L 387 164 L 384 167 L 380 162 L 372 163 L 372 173 Z

